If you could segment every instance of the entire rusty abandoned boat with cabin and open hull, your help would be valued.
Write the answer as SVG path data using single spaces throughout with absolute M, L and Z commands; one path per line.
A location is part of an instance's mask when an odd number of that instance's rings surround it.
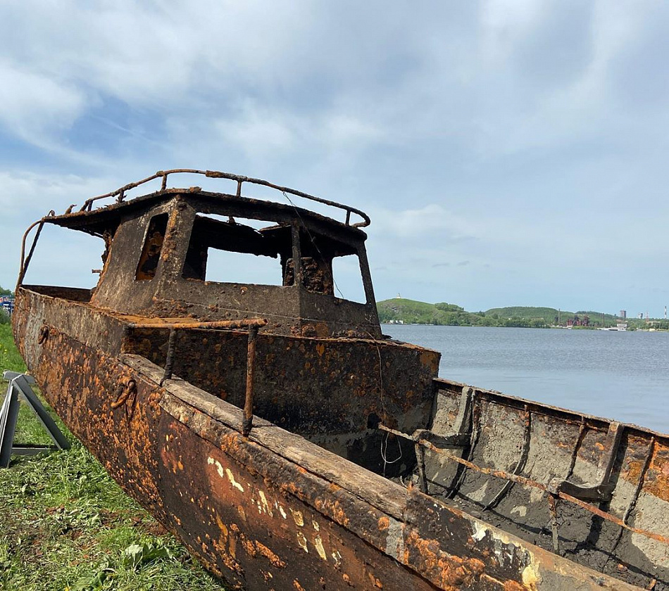
M 170 188 L 177 172 L 231 192 Z M 71 209 L 24 237 L 20 351 L 230 588 L 669 590 L 669 436 L 440 379 L 439 353 L 382 335 L 363 212 L 197 170 Z M 24 284 L 46 224 L 101 239 L 95 288 Z M 219 251 L 277 281 L 211 281 Z M 363 301 L 337 297 L 339 259 Z

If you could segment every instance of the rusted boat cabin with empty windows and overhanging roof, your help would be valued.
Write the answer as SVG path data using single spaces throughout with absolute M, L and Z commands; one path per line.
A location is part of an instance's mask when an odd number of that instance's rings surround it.
M 104 239 L 104 267 L 90 298 L 97 307 L 203 322 L 262 316 L 265 330 L 279 334 L 381 336 L 365 232 L 292 203 L 165 189 L 46 221 Z M 216 251 L 273 260 L 277 281 L 211 281 Z M 337 291 L 332 262 L 342 257 L 358 262 L 361 303 Z

